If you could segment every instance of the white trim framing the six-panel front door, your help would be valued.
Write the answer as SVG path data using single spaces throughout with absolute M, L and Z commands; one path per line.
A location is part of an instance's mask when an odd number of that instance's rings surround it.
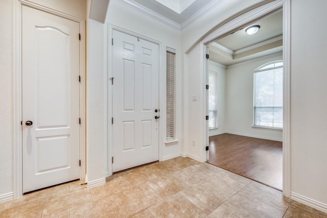
M 107 69 L 108 69 L 108 82 L 107 82 L 107 90 L 108 90 L 108 103 L 106 104 L 107 105 L 107 114 L 108 114 L 108 144 L 107 144 L 107 148 L 105 148 L 104 150 L 107 150 L 108 151 L 108 156 L 106 157 L 106 160 L 105 160 L 105 163 L 107 163 L 108 165 L 108 171 L 107 172 L 104 172 L 105 173 L 105 176 L 108 177 L 108 176 L 111 176 L 112 175 L 112 163 L 111 163 L 111 157 L 112 157 L 112 154 L 113 154 L 113 142 L 112 142 L 112 125 L 111 125 L 111 118 L 112 118 L 112 100 L 113 100 L 113 96 L 112 96 L 112 85 L 111 85 L 111 77 L 112 77 L 112 52 L 113 52 L 113 49 L 112 49 L 112 35 L 113 35 L 113 30 L 116 30 L 116 31 L 120 31 L 122 33 L 125 33 L 125 34 L 129 34 L 129 35 L 132 35 L 132 36 L 135 36 L 135 37 L 139 37 L 139 38 L 142 38 L 144 40 L 147 40 L 147 41 L 150 41 L 150 42 L 153 42 L 155 44 L 157 44 L 159 46 L 159 109 L 160 108 L 164 108 L 164 104 L 163 102 L 161 102 L 161 99 L 164 99 L 164 92 L 165 90 L 163 90 L 163 87 L 164 85 L 161 85 L 161 82 L 162 81 L 165 81 L 164 78 L 162 78 L 163 76 L 166 76 L 166 73 L 162 72 L 162 69 L 161 69 L 161 64 L 162 64 L 162 55 L 161 55 L 161 51 L 162 51 L 162 43 L 160 41 L 157 41 L 153 38 L 149 38 L 147 36 L 144 36 L 142 34 L 138 34 L 138 33 L 135 33 L 135 32 L 132 32 L 130 30 L 126 30 L 124 28 L 121 28 L 121 27 L 118 27 L 118 26 L 115 26 L 115 25 L 112 25 L 112 24 L 108 24 L 108 40 L 107 40 L 107 43 L 108 43 L 108 66 L 107 66 Z M 165 50 L 166 51 L 166 50 Z M 166 110 L 164 110 L 166 111 Z M 161 112 L 162 113 L 162 112 Z M 164 128 L 165 122 L 159 120 L 159 161 L 162 161 L 162 147 L 164 146 L 165 142 L 163 141 L 163 137 L 164 137 L 164 133 L 162 133 L 162 130 L 163 129 L 166 129 Z

